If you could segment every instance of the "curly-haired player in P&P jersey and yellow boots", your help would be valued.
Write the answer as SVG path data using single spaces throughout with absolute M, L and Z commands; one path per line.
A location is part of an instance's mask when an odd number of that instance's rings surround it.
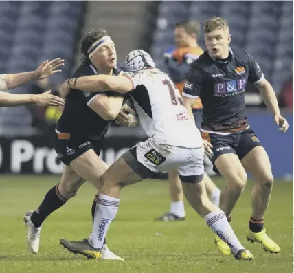
M 205 22 L 203 32 L 207 50 L 188 72 L 183 100 L 192 109 L 200 96 L 203 104 L 201 135 L 215 170 L 223 175 L 227 186 L 220 195 L 220 209 L 231 219 L 231 212 L 247 183 L 247 173 L 256 182 L 251 195 L 251 217 L 246 237 L 258 242 L 264 250 L 280 252 L 280 247 L 263 229 L 273 174 L 267 152 L 262 147 L 245 115 L 245 86 L 254 83 L 273 114 L 279 130 L 286 132 L 288 123 L 280 114 L 275 91 L 264 78 L 258 63 L 248 52 L 229 47 L 231 36 L 224 19 L 213 17 Z M 192 112 L 190 114 L 192 117 Z M 216 245 L 223 254 L 229 246 L 216 236 Z

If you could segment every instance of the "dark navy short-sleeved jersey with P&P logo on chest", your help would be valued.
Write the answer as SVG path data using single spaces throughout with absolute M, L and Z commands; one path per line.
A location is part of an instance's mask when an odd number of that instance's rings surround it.
M 203 105 L 201 129 L 234 133 L 248 127 L 245 113 L 247 82 L 257 83 L 262 78 L 260 66 L 245 50 L 229 48 L 226 63 L 214 59 L 205 50 L 190 67 L 183 96 L 200 96 Z

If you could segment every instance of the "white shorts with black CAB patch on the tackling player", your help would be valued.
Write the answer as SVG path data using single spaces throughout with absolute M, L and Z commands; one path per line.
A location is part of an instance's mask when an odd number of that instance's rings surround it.
M 124 160 L 143 179 L 176 168 L 182 182 L 200 182 L 203 179 L 203 159 L 203 147 L 185 148 L 158 144 L 152 138 L 140 142 L 124 154 Z

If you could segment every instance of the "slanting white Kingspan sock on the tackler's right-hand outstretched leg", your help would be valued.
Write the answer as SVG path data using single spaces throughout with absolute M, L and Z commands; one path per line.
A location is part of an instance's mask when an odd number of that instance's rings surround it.
M 214 233 L 229 245 L 234 256 L 238 254 L 239 250 L 245 249 L 238 241 L 224 212 L 210 212 L 208 215 L 205 215 L 204 220 Z

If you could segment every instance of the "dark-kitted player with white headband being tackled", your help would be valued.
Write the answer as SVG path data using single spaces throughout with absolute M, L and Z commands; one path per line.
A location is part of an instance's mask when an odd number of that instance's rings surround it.
M 74 77 L 95 74 L 117 75 L 116 50 L 106 30 L 88 32 L 82 39 L 80 51 L 84 61 Z M 123 96 L 111 91 L 89 93 L 76 90 L 67 96 L 65 109 L 56 127 L 54 148 L 65 164 L 60 183 L 50 189 L 38 210 L 27 212 L 27 245 L 32 253 L 38 252 L 42 223 L 54 210 L 63 206 L 85 181 L 101 187 L 100 177 L 108 166 L 100 158 L 100 150 L 109 122 L 122 107 Z M 95 213 L 95 200 L 92 215 Z M 109 251 L 104 242 L 102 259 L 121 259 Z

